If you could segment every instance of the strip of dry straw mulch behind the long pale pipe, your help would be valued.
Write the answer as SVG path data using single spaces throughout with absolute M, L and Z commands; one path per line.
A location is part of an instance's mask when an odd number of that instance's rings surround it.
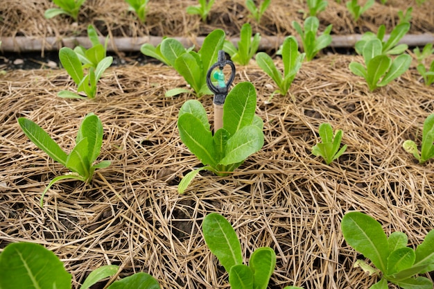
M 257 1 L 261 2 L 261 1 Z M 421 6 L 416 1 L 388 0 L 385 5 L 379 1 L 363 13 L 355 22 L 345 0 L 337 3 L 328 1 L 324 12 L 320 12 L 320 30 L 333 24 L 332 34 L 347 35 L 374 31 L 385 24 L 387 32 L 397 25 L 398 11 L 406 11 L 413 6 L 412 28 L 409 33 L 433 33 L 433 0 L 426 0 Z M 365 3 L 366 1 L 359 1 Z M 250 19 L 250 12 L 245 8 L 245 0 L 216 1 L 212 6 L 207 23 L 202 23 L 198 15 L 186 14 L 186 7 L 197 5 L 197 0 L 151 0 L 148 3 L 148 16 L 145 24 L 139 23 L 134 13 L 128 12 L 128 4 L 122 0 L 87 0 L 78 22 L 69 17 L 45 19 L 44 11 L 53 8 L 49 0 L 3 0 L 0 7 L 0 36 L 30 36 L 44 38 L 47 36 L 64 37 L 86 35 L 86 28 L 94 24 L 102 35 L 110 37 L 139 37 L 146 35 L 182 36 L 207 35 L 216 28 L 222 28 L 227 35 L 238 35 L 241 26 L 252 23 L 254 32 L 261 35 L 295 35 L 292 21 L 301 23 L 308 11 L 306 0 L 272 0 L 263 15 L 261 23 Z

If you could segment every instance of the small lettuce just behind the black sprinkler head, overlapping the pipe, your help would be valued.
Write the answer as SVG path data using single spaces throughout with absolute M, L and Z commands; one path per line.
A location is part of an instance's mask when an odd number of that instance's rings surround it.
M 259 42 L 261 42 L 261 35 L 256 33 L 252 39 L 252 26 L 246 23 L 241 27 L 238 49 L 236 49 L 232 42 L 225 40 L 223 50 L 230 55 L 233 62 L 247 65 L 253 58 L 254 53 L 257 53 Z

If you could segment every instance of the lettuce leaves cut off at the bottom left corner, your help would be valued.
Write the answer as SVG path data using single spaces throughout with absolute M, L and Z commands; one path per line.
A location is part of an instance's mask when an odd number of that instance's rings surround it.
M 88 289 L 98 281 L 112 277 L 119 270 L 117 265 L 105 265 L 94 271 L 80 286 Z M 69 274 L 58 256 L 42 245 L 35 243 L 10 243 L 0 254 L 0 288 L 56 288 L 71 289 Z M 150 274 L 139 272 L 119 281 L 107 289 L 159 289 L 159 284 Z

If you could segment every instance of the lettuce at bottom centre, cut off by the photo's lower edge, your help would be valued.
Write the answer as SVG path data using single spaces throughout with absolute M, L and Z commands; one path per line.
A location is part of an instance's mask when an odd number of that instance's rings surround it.
M 275 270 L 276 254 L 270 247 L 260 247 L 252 253 L 249 265 L 243 264 L 241 244 L 234 228 L 225 217 L 210 213 L 202 222 L 202 232 L 211 252 L 229 273 L 232 289 L 266 289 Z

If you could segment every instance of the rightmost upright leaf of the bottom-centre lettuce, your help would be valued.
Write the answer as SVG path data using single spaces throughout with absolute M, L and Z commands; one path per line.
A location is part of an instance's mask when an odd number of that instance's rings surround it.
M 250 256 L 249 267 L 253 272 L 253 288 L 266 289 L 276 266 L 276 253 L 270 247 L 261 247 Z

